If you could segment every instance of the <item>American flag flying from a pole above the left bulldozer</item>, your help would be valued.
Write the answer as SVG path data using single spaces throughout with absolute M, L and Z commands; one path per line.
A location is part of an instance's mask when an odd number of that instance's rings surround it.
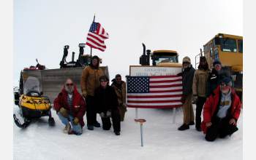
M 86 44 L 95 49 L 99 49 L 102 52 L 105 51 L 106 45 L 104 44 L 104 40 L 108 39 L 108 33 L 102 28 L 102 25 L 99 23 L 93 22 L 91 24 Z

